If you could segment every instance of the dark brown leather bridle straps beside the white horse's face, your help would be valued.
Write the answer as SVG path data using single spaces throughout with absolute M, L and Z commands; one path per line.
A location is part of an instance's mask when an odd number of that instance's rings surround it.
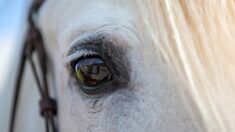
M 17 103 L 21 90 L 21 82 L 26 61 L 29 61 L 31 65 L 33 75 L 35 77 L 37 87 L 41 96 L 39 105 L 41 116 L 45 118 L 46 132 L 58 132 L 54 119 L 54 116 L 56 116 L 57 114 L 56 101 L 50 97 L 47 84 L 47 55 L 40 31 L 37 29 L 34 23 L 34 17 L 35 15 L 37 15 L 37 12 L 43 1 L 44 0 L 35 0 L 29 10 L 29 29 L 21 54 L 19 71 L 17 73 L 17 80 L 15 83 L 9 132 L 14 131 Z M 33 53 L 36 53 L 38 57 L 38 69 L 36 69 L 37 67 L 35 65 L 35 59 L 33 59 Z

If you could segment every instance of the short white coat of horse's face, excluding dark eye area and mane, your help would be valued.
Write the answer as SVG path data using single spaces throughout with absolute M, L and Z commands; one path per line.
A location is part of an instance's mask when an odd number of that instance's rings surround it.
M 144 20 L 134 3 L 48 0 L 40 9 L 38 26 L 55 77 L 60 132 L 196 131 L 177 79 L 144 34 Z M 68 68 L 79 53 L 67 54 L 77 41 L 97 34 L 115 47 L 112 59 L 123 63 L 120 73 L 129 80 L 112 92 L 91 97 L 79 90 Z

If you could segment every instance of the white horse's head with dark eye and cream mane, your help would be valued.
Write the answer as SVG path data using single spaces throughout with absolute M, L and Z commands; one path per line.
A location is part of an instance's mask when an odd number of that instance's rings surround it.
M 233 131 L 234 4 L 45 1 L 60 131 Z

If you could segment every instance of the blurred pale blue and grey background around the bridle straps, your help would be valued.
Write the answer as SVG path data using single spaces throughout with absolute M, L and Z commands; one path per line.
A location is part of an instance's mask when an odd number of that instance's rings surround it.
M 7 132 L 11 114 L 14 83 L 27 31 L 27 12 L 31 0 L 0 0 L 0 132 Z M 26 68 L 21 90 L 15 132 L 42 132 L 36 85 Z

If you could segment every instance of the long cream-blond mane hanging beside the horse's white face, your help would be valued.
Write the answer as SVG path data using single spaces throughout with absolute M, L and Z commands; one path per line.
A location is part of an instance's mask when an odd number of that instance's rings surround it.
M 145 32 L 180 77 L 185 87 L 179 92 L 192 99 L 207 131 L 235 130 L 234 5 L 233 0 L 137 0 Z

